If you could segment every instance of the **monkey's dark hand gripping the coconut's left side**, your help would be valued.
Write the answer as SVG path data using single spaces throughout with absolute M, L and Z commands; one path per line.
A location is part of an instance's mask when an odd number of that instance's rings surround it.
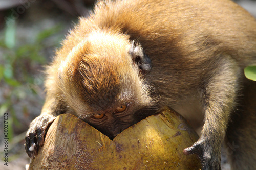
M 25 150 L 31 159 L 37 155 L 39 147 L 44 145 L 47 129 L 55 118 L 53 115 L 43 114 L 31 122 L 25 136 Z

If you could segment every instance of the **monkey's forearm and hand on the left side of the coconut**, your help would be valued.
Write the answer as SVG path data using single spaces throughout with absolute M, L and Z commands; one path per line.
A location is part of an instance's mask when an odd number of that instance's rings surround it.
M 36 156 L 39 147 L 44 145 L 47 129 L 59 114 L 56 112 L 58 106 L 57 100 L 47 95 L 41 114 L 30 123 L 29 130 L 25 136 L 25 150 L 30 158 Z

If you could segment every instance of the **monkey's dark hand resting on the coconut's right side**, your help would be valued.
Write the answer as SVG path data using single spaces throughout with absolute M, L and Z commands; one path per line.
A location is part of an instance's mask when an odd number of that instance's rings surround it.
M 221 169 L 221 145 L 212 147 L 209 139 L 203 135 L 191 147 L 183 150 L 185 155 L 197 154 L 201 160 L 202 170 L 219 170 Z

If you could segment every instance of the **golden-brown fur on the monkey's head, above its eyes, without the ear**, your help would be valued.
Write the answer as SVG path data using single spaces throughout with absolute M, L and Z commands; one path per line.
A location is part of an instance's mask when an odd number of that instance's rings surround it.
M 124 103 L 134 108 L 152 105 L 149 87 L 129 54 L 132 45 L 125 37 L 95 32 L 61 61 L 58 89 L 77 116 Z

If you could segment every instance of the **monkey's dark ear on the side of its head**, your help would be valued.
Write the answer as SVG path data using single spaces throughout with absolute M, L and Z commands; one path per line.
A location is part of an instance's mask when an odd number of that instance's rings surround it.
M 135 44 L 135 41 L 132 42 L 129 54 L 131 55 L 133 62 L 138 66 L 142 75 L 150 72 L 152 67 L 151 60 L 145 53 L 143 53 L 142 47 L 139 44 Z

